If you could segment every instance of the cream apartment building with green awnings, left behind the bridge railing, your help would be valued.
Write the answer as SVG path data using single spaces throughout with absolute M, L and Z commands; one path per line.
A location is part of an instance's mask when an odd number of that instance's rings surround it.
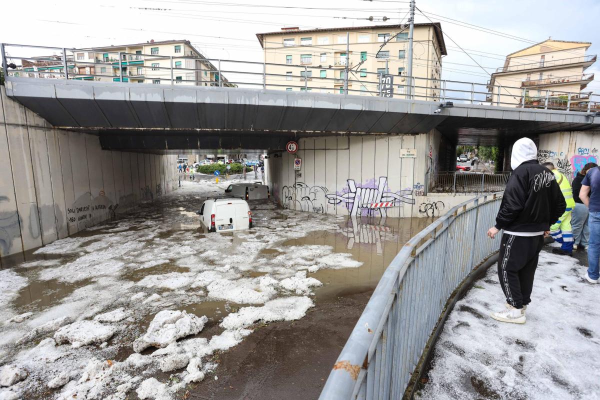
M 169 85 L 173 79 L 181 85 L 233 86 L 187 40 L 68 50 L 67 64 L 71 79 Z M 64 79 L 61 55 L 23 60 L 23 69 L 35 77 Z

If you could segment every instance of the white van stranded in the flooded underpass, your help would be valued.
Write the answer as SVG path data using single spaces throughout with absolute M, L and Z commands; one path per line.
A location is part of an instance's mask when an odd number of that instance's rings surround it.
M 209 199 L 196 213 L 209 232 L 231 232 L 252 227 L 252 213 L 245 200 Z

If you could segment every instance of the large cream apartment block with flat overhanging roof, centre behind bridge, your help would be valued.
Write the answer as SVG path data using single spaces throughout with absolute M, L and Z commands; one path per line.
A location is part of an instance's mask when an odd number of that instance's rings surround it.
M 394 76 L 394 97 L 404 97 L 409 28 L 401 25 L 354 26 L 256 34 L 263 48 L 266 86 L 288 91 L 379 95 L 381 74 Z M 419 100 L 439 96 L 446 46 L 439 23 L 416 23 L 413 76 Z M 274 65 L 277 64 L 277 65 Z

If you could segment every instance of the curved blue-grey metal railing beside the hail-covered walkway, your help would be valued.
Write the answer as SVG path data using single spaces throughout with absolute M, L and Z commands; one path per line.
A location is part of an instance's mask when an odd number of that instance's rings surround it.
M 452 291 L 500 245 L 500 193 L 464 201 L 409 240 L 383 273 L 321 400 L 400 399 Z

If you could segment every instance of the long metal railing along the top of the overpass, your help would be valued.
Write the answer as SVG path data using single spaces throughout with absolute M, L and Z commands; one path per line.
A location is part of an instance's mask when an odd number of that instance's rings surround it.
M 19 54 L 25 52 L 23 49 L 27 49 L 29 54 Z M 301 64 L 273 64 L 6 43 L 0 44 L 0 52 L 2 65 L 9 78 L 47 77 L 100 82 L 167 83 L 172 86 L 262 88 L 442 103 L 452 101 L 527 109 L 600 112 L 600 96 L 592 93 L 410 77 L 404 75 L 403 71 L 399 71 L 399 74 L 370 72 L 365 68 L 357 69 L 360 64 L 353 66 L 352 61 L 340 62 L 340 59 L 334 57 L 326 58 L 325 61 L 320 58 L 317 61 L 316 56 L 310 57 L 310 60 L 305 58 L 301 60 Z M 36 52 L 54 52 L 55 55 L 35 56 Z M 198 62 L 188 62 L 190 60 Z M 196 67 L 190 68 L 190 65 Z M 132 68 L 134 73 L 131 72 Z

